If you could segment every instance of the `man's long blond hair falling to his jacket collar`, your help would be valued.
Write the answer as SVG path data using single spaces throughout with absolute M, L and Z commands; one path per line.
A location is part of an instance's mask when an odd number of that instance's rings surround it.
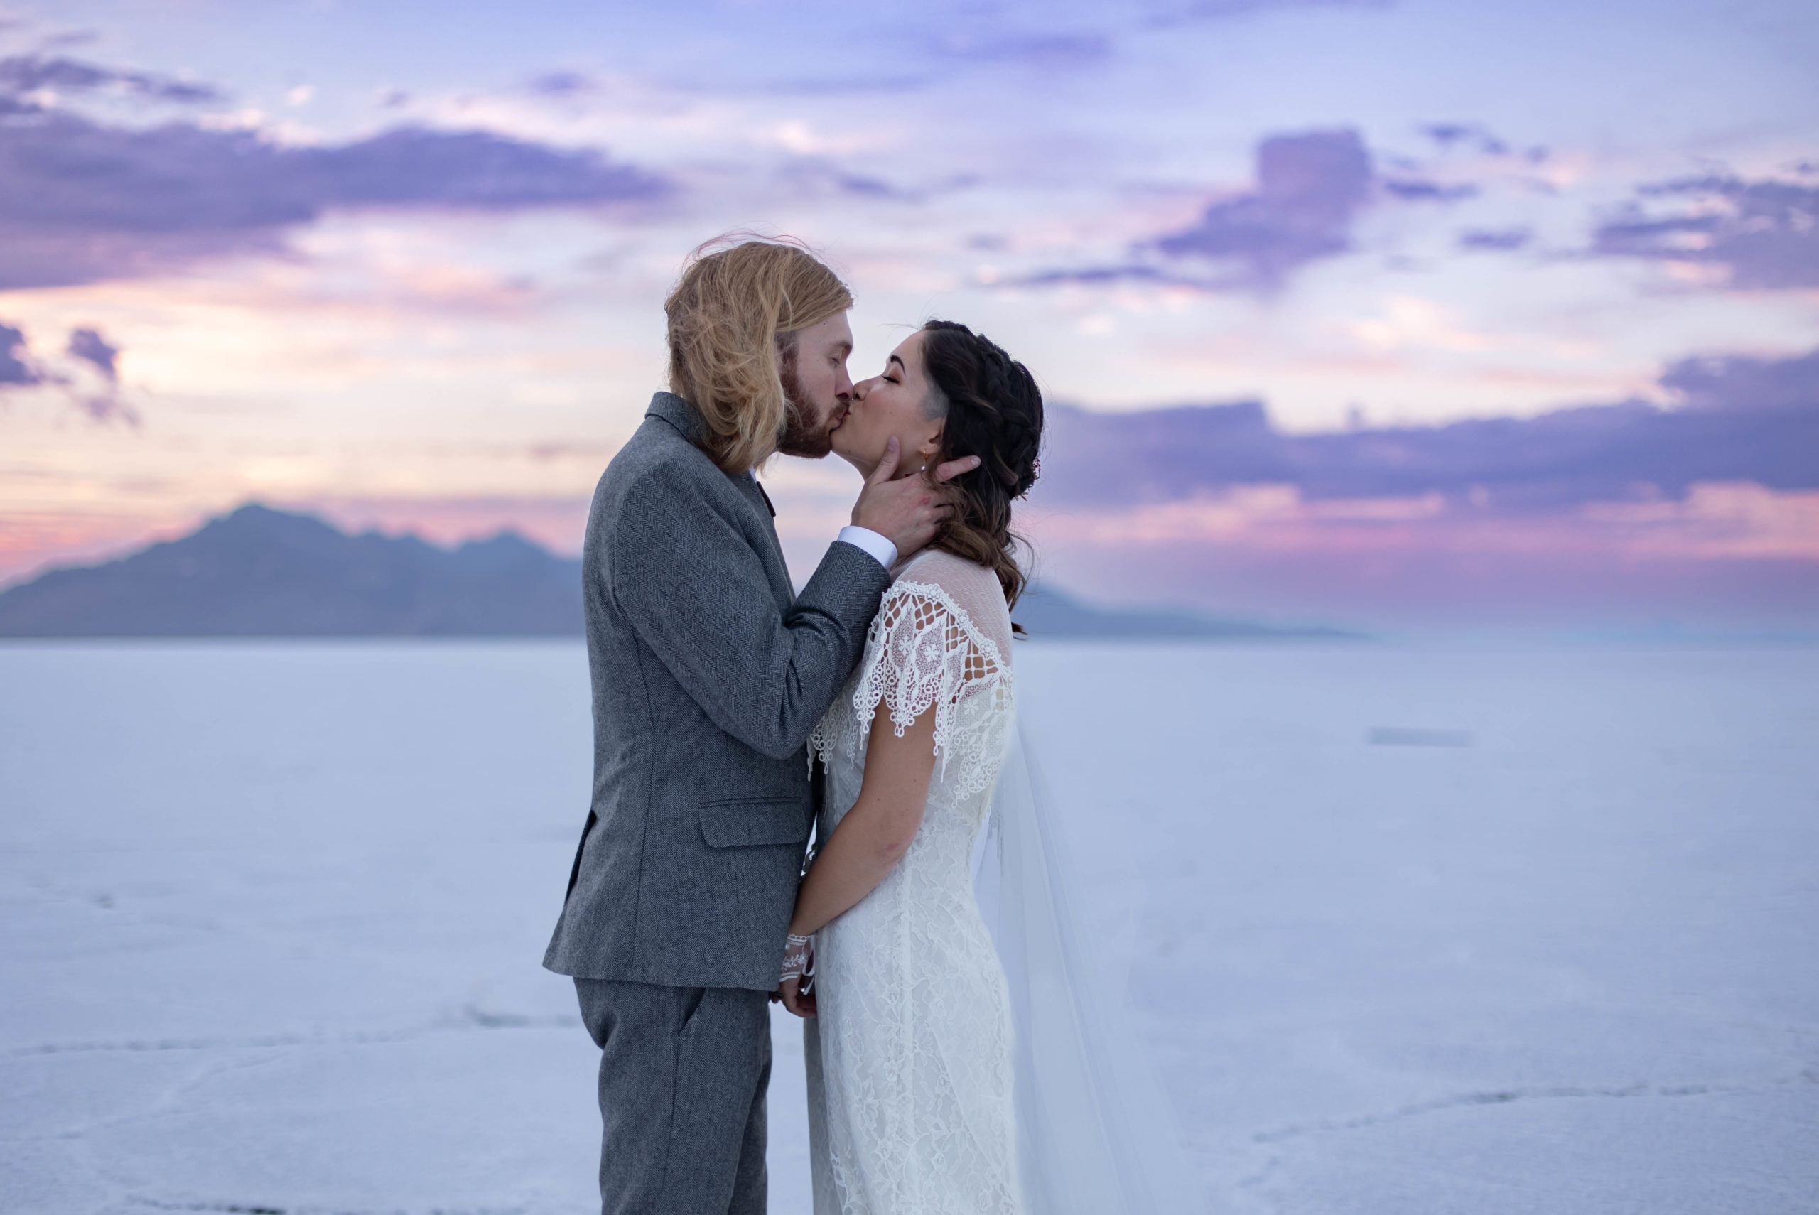
M 669 391 L 700 415 L 713 462 L 744 473 L 782 438 L 782 366 L 795 335 L 849 309 L 853 293 L 800 242 L 746 238 L 715 249 L 728 240 L 695 249 L 664 302 Z

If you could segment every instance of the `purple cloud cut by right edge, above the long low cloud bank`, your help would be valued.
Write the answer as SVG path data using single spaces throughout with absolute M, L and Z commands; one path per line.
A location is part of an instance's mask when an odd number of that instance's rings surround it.
M 1819 187 L 1699 176 L 1637 193 L 1683 206 L 1650 215 L 1632 204 L 1599 226 L 1592 253 L 1713 266 L 1737 289 L 1819 287 Z

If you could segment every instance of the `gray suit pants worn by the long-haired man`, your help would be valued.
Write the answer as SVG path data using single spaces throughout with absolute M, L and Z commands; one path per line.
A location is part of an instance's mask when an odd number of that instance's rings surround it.
M 602 1215 L 764 1215 L 764 991 L 577 979 L 600 1048 Z

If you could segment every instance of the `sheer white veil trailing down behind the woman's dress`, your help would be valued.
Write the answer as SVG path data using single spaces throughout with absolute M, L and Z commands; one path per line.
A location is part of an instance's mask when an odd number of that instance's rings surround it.
M 1168 1100 L 1071 899 L 1066 831 L 1024 724 L 973 855 L 979 909 L 1004 964 L 1015 1029 L 1017 1170 L 1030 1215 L 1204 1211 Z

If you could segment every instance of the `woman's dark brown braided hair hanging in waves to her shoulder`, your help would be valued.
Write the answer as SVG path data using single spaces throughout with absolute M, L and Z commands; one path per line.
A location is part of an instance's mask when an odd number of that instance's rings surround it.
M 922 371 L 946 402 L 940 460 L 977 455 L 979 467 L 948 486 L 953 515 L 935 547 L 999 575 L 1017 606 L 1030 577 L 1017 566 L 1011 500 L 1030 493 L 1040 467 L 1042 391 L 1020 362 L 984 335 L 951 320 L 922 326 Z

